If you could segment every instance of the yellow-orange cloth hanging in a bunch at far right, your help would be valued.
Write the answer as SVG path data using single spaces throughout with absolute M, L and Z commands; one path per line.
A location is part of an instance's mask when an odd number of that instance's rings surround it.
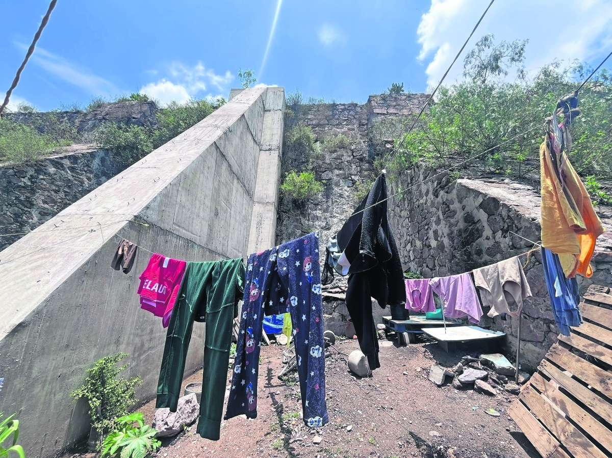
M 564 192 L 554 172 L 549 147 L 548 141 L 540 146 L 542 246 L 559 255 L 567 278 L 577 273 L 590 277 L 595 240 L 604 231 L 602 221 L 569 160 L 565 160 L 561 170 L 567 191 Z

